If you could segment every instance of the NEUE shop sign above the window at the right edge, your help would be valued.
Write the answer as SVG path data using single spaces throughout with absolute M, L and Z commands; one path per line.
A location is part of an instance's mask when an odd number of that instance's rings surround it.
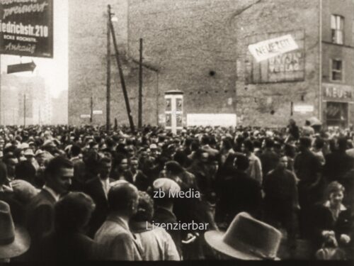
M 353 101 L 354 87 L 343 84 L 323 84 L 324 100 Z

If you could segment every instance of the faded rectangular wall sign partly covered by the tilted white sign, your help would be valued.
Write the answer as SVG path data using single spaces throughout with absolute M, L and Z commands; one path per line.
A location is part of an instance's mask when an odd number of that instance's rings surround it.
M 255 35 L 249 37 L 249 43 L 258 40 L 278 40 L 276 36 L 282 36 L 284 33 L 271 33 Z M 292 31 L 285 36 L 291 36 L 296 43 L 287 46 L 282 52 L 278 52 L 265 60 L 258 61 L 251 52 L 248 53 L 245 68 L 246 82 L 249 84 L 270 83 L 270 82 L 295 82 L 303 81 L 305 77 L 305 51 L 304 51 L 304 31 Z M 272 39 L 271 39 L 272 40 Z M 285 39 L 284 39 L 285 40 Z M 289 40 L 289 43 L 290 40 Z M 291 49 L 290 48 L 294 48 Z M 287 51 L 287 52 L 286 52 Z

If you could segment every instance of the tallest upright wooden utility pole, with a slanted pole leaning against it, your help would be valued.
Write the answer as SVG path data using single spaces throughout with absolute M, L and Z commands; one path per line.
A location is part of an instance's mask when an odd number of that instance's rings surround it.
M 110 13 L 110 5 L 108 5 L 108 20 L 107 20 L 107 91 L 106 91 L 106 110 L 105 110 L 105 130 L 110 130 L 110 20 L 112 13 Z

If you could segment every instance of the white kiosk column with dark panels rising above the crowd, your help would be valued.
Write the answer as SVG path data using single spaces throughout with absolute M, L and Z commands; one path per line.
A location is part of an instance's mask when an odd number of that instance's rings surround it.
M 165 128 L 176 134 L 183 129 L 183 92 L 165 92 Z

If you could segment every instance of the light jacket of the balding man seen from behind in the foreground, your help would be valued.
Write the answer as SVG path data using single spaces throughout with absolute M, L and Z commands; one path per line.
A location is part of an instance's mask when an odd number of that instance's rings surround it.
M 108 215 L 94 240 L 100 260 L 142 260 L 141 246 L 119 216 Z

